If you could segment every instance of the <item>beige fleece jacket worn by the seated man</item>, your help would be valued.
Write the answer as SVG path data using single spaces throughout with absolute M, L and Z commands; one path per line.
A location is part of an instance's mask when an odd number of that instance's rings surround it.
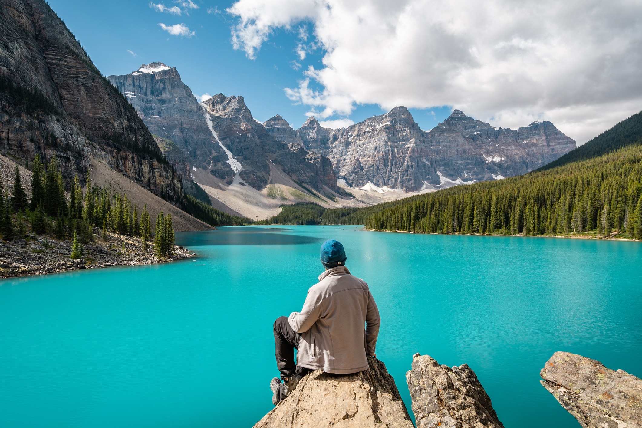
M 368 368 L 379 334 L 379 309 L 365 281 L 345 266 L 319 275 L 300 312 L 288 321 L 301 334 L 297 365 L 326 373 Z

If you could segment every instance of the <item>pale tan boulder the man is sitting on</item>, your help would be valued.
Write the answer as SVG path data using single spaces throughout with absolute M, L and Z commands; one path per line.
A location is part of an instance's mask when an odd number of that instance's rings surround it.
M 351 375 L 308 373 L 254 428 L 413 428 L 386 366 L 374 358 L 369 364 Z

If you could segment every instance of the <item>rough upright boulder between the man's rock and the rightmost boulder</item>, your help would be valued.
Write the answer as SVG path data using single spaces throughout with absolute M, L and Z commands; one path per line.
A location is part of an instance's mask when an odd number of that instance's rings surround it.
M 503 428 L 490 398 L 467 364 L 439 365 L 415 354 L 406 373 L 417 428 Z

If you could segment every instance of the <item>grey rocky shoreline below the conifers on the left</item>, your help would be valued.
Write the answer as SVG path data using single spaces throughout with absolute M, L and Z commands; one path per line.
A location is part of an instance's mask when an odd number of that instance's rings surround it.
M 0 278 L 166 263 L 194 256 L 187 248 L 176 246 L 171 257 L 157 257 L 153 254 L 152 243 L 148 243 L 146 250 L 143 250 L 141 239 L 114 233 L 107 233 L 107 241 L 103 241 L 98 228 L 94 228 L 93 237 L 93 243 L 83 245 L 81 259 L 69 258 L 71 241 L 59 241 L 44 235 L 0 241 Z

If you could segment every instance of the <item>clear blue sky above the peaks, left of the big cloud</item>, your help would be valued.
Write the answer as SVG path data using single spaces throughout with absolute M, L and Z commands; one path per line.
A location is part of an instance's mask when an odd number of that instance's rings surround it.
M 180 7 L 180 3 L 171 0 L 154 3 Z M 178 16 L 158 12 L 148 1 L 49 0 L 51 8 L 105 76 L 131 73 L 149 62 L 164 62 L 177 67 L 184 83 L 197 96 L 219 92 L 227 96 L 242 95 L 259 121 L 281 114 L 298 128 L 306 120 L 310 107 L 293 103 L 284 88 L 297 87 L 303 78 L 302 71 L 309 65 L 322 67 L 325 53 L 322 48 L 309 52 L 304 60 L 300 60 L 296 52 L 299 28 L 311 32 L 313 24 L 302 22 L 296 30 L 275 28 L 256 59 L 248 59 L 245 51 L 232 47 L 230 28 L 237 19 L 225 12 L 232 3 L 195 0 L 198 8 L 180 7 L 182 12 Z M 162 30 L 160 23 L 185 24 L 195 34 L 192 37 L 170 35 Z M 319 89 L 318 84 L 315 88 Z M 429 130 L 446 119 L 452 108 L 410 110 L 421 128 Z M 356 123 L 385 112 L 376 104 L 356 104 L 349 119 Z M 345 116 L 334 115 L 326 120 L 341 117 Z

